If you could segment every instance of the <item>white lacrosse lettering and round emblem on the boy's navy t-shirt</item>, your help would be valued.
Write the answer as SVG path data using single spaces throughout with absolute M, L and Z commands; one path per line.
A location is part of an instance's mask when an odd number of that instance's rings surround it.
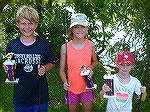
M 14 56 L 17 64 L 24 65 L 25 72 L 32 72 L 33 65 L 40 64 L 41 61 L 40 54 L 14 54 Z

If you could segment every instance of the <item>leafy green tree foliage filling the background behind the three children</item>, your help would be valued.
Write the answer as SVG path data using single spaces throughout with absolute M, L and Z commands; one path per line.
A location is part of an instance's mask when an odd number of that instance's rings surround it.
M 85 13 L 89 17 L 89 39 L 97 46 L 100 61 L 108 58 L 108 63 L 115 62 L 118 51 L 133 51 L 137 65 L 134 71 L 139 79 L 149 84 L 150 72 L 150 1 L 149 0 L 17 0 L 0 4 L 4 46 L 8 40 L 19 36 L 15 26 L 15 14 L 21 5 L 32 5 L 38 10 L 40 23 L 36 30 L 38 36 L 51 42 L 59 58 L 60 46 L 67 39 L 71 13 L 65 7 L 72 7 L 75 12 Z M 8 1 L 8 0 L 7 0 Z M 7 6 L 6 6 L 7 4 Z M 3 8 L 6 6 L 5 8 Z M 1 26 L 0 26 L 1 27 Z M 124 31 L 124 38 L 111 45 L 116 32 Z M 140 43 L 140 46 L 139 46 Z M 106 63 L 103 63 L 106 64 Z M 146 72 L 143 68 L 146 67 Z M 102 68 L 99 69 L 100 73 Z M 102 74 L 102 73 L 101 73 Z M 142 74 L 142 75 L 141 75 Z M 148 103 L 146 103 L 148 105 Z M 145 112 L 145 110 L 143 109 Z

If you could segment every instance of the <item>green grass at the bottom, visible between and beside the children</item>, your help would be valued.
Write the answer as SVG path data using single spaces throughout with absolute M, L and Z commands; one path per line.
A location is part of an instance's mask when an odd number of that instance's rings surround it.
M 93 112 L 105 112 L 106 108 L 106 99 L 99 98 L 99 91 L 103 84 L 103 75 L 104 71 L 102 68 L 98 67 L 95 71 L 95 76 L 93 77 L 93 82 L 98 84 L 98 88 L 94 90 L 94 103 L 93 103 Z M 0 79 L 3 81 L 6 79 L 6 75 L 0 71 Z M 63 102 L 64 93 L 62 82 L 59 77 L 59 67 L 56 66 L 55 69 L 51 70 L 47 74 L 48 88 L 49 88 L 49 112 L 67 112 L 67 106 Z M 149 88 L 147 92 L 149 94 Z M 0 82 L 0 112 L 13 112 L 13 85 L 5 84 Z M 137 100 L 133 100 L 133 112 L 137 112 L 138 104 L 135 104 Z M 145 102 L 141 103 L 141 112 L 149 112 L 149 100 L 148 95 Z M 82 105 L 79 105 L 79 112 L 82 112 Z

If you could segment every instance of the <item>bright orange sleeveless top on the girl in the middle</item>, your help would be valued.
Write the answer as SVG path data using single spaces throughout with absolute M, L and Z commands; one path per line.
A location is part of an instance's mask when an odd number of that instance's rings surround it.
M 86 65 L 89 67 L 91 65 L 92 49 L 88 39 L 85 40 L 85 45 L 83 49 L 77 50 L 73 48 L 72 41 L 68 42 L 68 80 L 70 82 L 69 91 L 80 94 L 85 92 L 85 81 L 80 75 L 81 66 Z

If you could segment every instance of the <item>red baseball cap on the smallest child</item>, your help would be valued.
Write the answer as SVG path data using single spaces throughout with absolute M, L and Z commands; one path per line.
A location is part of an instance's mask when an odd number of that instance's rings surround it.
M 122 52 L 118 53 L 118 55 L 116 57 L 116 64 L 120 65 L 120 64 L 124 64 L 124 63 L 135 64 L 134 55 L 131 52 L 122 51 Z

